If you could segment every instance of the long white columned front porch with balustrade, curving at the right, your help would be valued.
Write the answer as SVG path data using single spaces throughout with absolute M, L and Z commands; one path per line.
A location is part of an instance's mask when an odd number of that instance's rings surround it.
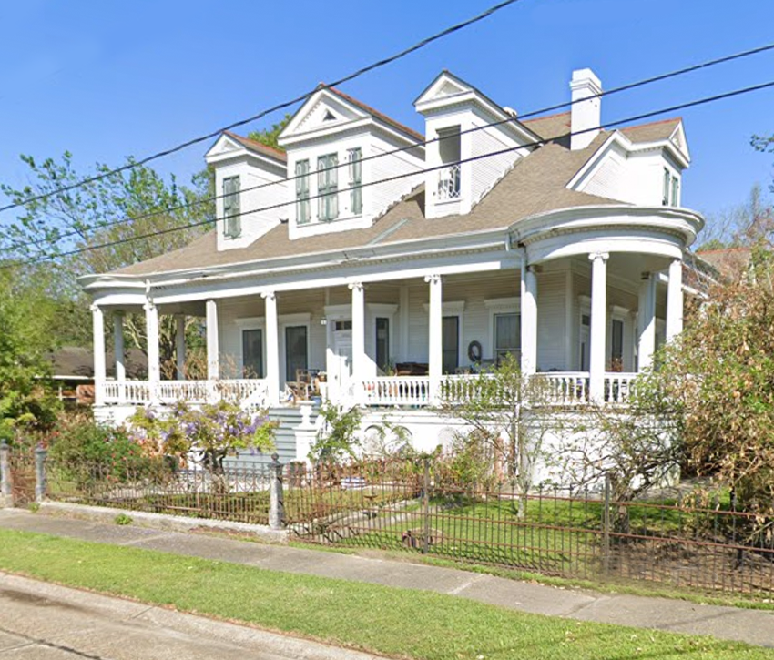
M 225 399 L 260 410 L 310 399 L 416 409 L 475 396 L 472 371 L 506 353 L 545 384 L 546 405 L 626 404 L 637 371 L 681 327 L 679 261 L 675 268 L 656 256 L 593 254 L 516 265 L 251 295 L 219 291 L 207 300 L 159 296 L 142 307 L 145 381 L 124 377 L 123 319 L 131 306 L 95 306 L 97 407 Z M 117 356 L 117 378 L 109 381 L 107 311 Z M 159 315 L 177 319 L 165 369 Z M 201 320 L 207 378 L 185 377 L 190 317 Z M 174 380 L 162 377 L 172 372 Z M 300 381 L 308 382 L 299 389 Z

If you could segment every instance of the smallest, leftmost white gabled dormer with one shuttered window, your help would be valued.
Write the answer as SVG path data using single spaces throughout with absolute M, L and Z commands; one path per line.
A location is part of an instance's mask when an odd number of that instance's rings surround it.
M 246 248 L 288 218 L 282 151 L 227 131 L 205 159 L 215 169 L 219 250 Z

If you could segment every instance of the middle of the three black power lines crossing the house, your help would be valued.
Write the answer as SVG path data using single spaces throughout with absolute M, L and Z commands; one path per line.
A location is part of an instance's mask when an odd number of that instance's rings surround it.
M 679 69 L 676 69 L 674 71 L 670 71 L 670 72 L 665 73 L 665 74 L 659 74 L 657 76 L 650 76 L 650 77 L 644 78 L 642 80 L 638 80 L 638 81 L 636 81 L 634 83 L 627 83 L 626 85 L 613 87 L 612 89 L 608 89 L 606 91 L 603 90 L 601 93 L 596 94 L 596 95 L 584 96 L 583 98 L 577 98 L 575 100 L 567 101 L 565 103 L 556 104 L 554 106 L 542 107 L 540 109 L 533 110 L 531 112 L 525 113 L 524 115 L 521 115 L 520 117 L 516 117 L 516 118 L 524 119 L 524 118 L 527 118 L 527 117 L 535 117 L 535 116 L 538 116 L 538 115 L 543 115 L 546 112 L 552 112 L 554 110 L 561 109 L 561 108 L 564 108 L 564 107 L 572 107 L 576 103 L 581 103 L 583 101 L 587 101 L 587 100 L 592 99 L 592 98 L 601 98 L 602 96 L 611 96 L 611 95 L 614 95 L 614 94 L 618 94 L 620 92 L 629 91 L 631 89 L 636 89 L 637 87 L 652 85 L 654 83 L 661 82 L 661 81 L 667 80 L 669 78 L 673 78 L 673 77 L 677 77 L 677 76 L 685 76 L 685 75 L 687 75 L 689 73 L 693 73 L 693 72 L 698 71 L 700 69 L 705 69 L 705 68 L 708 68 L 708 67 L 711 67 L 711 66 L 717 66 L 719 64 L 725 64 L 725 63 L 728 63 L 728 62 L 731 62 L 733 60 L 737 60 L 737 59 L 740 59 L 740 58 L 743 58 L 743 57 L 759 55 L 760 53 L 764 53 L 764 52 L 767 52 L 767 51 L 770 51 L 770 50 L 774 50 L 774 43 L 767 44 L 765 46 L 757 46 L 755 48 L 750 48 L 749 50 L 740 51 L 738 53 L 734 53 L 734 54 L 728 55 L 728 56 L 717 57 L 715 59 L 710 59 L 710 60 L 705 61 L 705 62 L 700 62 L 700 63 L 698 63 L 696 65 L 685 66 L 683 68 L 679 68 Z M 466 128 L 465 130 L 460 131 L 460 135 L 464 135 L 464 134 L 467 134 L 467 133 L 474 133 L 475 131 L 484 130 L 485 128 L 502 126 L 503 124 L 510 124 L 510 123 L 513 123 L 513 122 L 514 122 L 514 117 L 507 117 L 505 119 L 500 119 L 500 120 L 497 120 L 497 121 L 494 121 L 494 122 L 490 122 L 488 124 L 484 124 L 482 126 Z M 375 155 L 372 155 L 372 156 L 363 157 L 361 159 L 361 162 L 367 162 L 367 161 L 375 159 L 375 158 L 391 156 L 393 154 L 401 153 L 403 151 L 410 151 L 412 149 L 419 148 L 419 147 L 426 147 L 426 146 L 428 146 L 430 144 L 433 144 L 434 142 L 438 142 L 438 141 L 440 141 L 442 139 L 444 139 L 444 137 L 433 137 L 432 139 L 426 139 L 426 140 L 423 140 L 423 141 L 418 141 L 418 142 L 413 143 L 412 145 L 409 145 L 407 147 L 396 147 L 396 148 L 394 148 L 392 150 L 385 151 L 385 152 L 382 152 L 380 154 L 375 154 Z M 525 145 L 524 146 L 524 148 L 527 148 L 527 147 L 529 147 L 529 145 Z M 348 163 L 341 162 L 341 163 L 337 164 L 336 166 L 334 166 L 332 168 L 325 168 L 325 169 L 327 170 L 327 169 L 345 168 L 345 167 L 347 167 L 347 165 L 348 165 Z M 255 186 L 250 186 L 249 188 L 243 188 L 242 190 L 240 190 L 240 192 L 250 192 L 252 190 L 259 190 L 261 188 L 269 188 L 271 186 L 280 185 L 280 183 L 281 184 L 286 184 L 286 183 L 290 183 L 290 182 L 292 182 L 292 181 L 294 181 L 294 180 L 296 180 L 298 178 L 301 178 L 301 177 L 307 177 L 307 176 L 311 177 L 311 176 L 314 176 L 314 175 L 316 175 L 316 174 L 318 174 L 320 172 L 321 172 L 321 169 L 315 169 L 315 170 L 312 170 L 310 172 L 307 172 L 304 175 L 292 175 L 290 177 L 283 178 L 281 181 L 270 181 L 270 182 L 267 182 L 267 183 L 260 183 L 260 184 L 257 184 Z M 42 195 L 42 196 L 40 196 L 40 198 L 45 198 L 47 195 L 50 195 L 50 194 L 52 194 L 52 193 L 46 193 L 46 195 Z M 36 239 L 36 240 L 30 240 L 30 241 L 26 241 L 26 242 L 22 242 L 22 243 L 12 243 L 11 245 L 5 246 L 5 249 L 11 250 L 11 249 L 26 248 L 26 247 L 31 246 L 31 245 L 39 246 L 41 244 L 50 243 L 50 242 L 52 242 L 54 240 L 61 240 L 61 239 L 66 239 L 66 238 L 69 238 L 69 237 L 72 237 L 72 236 L 77 236 L 77 235 L 80 235 L 80 234 L 84 233 L 85 231 L 88 232 L 88 231 L 93 231 L 93 230 L 96 230 L 96 229 L 113 227 L 115 225 L 124 224 L 126 222 L 137 222 L 138 220 L 154 218 L 154 217 L 157 217 L 157 216 L 166 215 L 168 213 L 173 213 L 173 212 L 178 211 L 178 210 L 183 210 L 185 208 L 193 208 L 193 207 L 196 207 L 196 206 L 200 206 L 202 204 L 207 204 L 210 201 L 216 201 L 216 200 L 218 200 L 220 198 L 224 198 L 224 197 L 226 197 L 226 196 L 223 195 L 223 194 L 216 194 L 214 196 L 210 196 L 210 197 L 207 197 L 207 198 L 198 199 L 198 200 L 196 200 L 194 202 L 186 202 L 185 204 L 180 204 L 180 205 L 173 206 L 173 207 L 167 207 L 167 208 L 163 208 L 163 209 L 156 210 L 156 211 L 149 211 L 148 213 L 144 213 L 144 214 L 141 214 L 141 215 L 138 215 L 138 216 L 134 216 L 134 217 L 131 217 L 131 218 L 127 217 L 127 218 L 120 218 L 120 219 L 117 219 L 117 220 L 109 220 L 107 222 L 99 223 L 97 225 L 92 225 L 92 226 L 87 227 L 87 228 L 81 228 L 81 229 L 78 229 L 78 230 L 75 230 L 75 229 L 74 230 L 69 230 L 69 231 L 57 234 L 56 239 Z M 22 203 L 20 203 L 20 205 L 21 204 Z M 2 210 L 2 209 L 0 209 L 0 210 Z

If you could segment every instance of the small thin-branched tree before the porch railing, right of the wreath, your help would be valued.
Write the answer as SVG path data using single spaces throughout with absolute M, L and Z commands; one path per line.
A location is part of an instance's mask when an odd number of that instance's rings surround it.
M 520 517 L 533 485 L 535 462 L 543 457 L 545 435 L 555 428 L 551 415 L 539 410 L 547 402 L 545 380 L 524 376 L 510 354 L 492 370 L 442 386 L 438 411 L 465 427 L 458 433 L 457 451 L 483 463 L 465 471 L 480 477 L 504 465 L 506 478 L 520 493 Z

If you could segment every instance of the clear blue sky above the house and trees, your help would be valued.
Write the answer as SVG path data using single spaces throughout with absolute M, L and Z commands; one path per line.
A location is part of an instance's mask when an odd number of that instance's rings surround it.
M 0 5 L 0 181 L 21 186 L 21 153 L 117 165 L 297 96 L 470 17 L 494 0 L 239 0 Z M 604 87 L 774 41 L 761 0 L 522 0 L 486 21 L 343 86 L 422 130 L 413 99 L 443 68 L 520 113 L 568 100 L 574 68 Z M 604 121 L 774 79 L 774 52 L 603 99 Z M 691 108 L 683 203 L 703 212 L 768 186 L 774 90 Z M 276 121 L 268 117 L 259 128 Z M 181 181 L 206 146 L 157 167 Z M 0 216 L 0 220 L 3 217 Z

